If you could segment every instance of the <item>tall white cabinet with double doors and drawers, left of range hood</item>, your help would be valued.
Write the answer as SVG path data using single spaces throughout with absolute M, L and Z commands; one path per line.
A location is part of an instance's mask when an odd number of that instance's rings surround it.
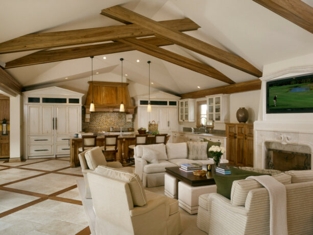
M 59 87 L 23 92 L 25 156 L 69 155 L 70 138 L 81 131 L 82 96 Z

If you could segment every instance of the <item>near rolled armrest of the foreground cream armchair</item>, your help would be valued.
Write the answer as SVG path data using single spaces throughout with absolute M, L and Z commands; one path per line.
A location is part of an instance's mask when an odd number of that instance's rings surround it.
M 166 215 L 168 217 L 169 216 L 168 214 L 170 213 L 170 207 L 168 205 L 168 200 L 165 196 L 152 199 L 152 200 L 148 201 L 147 204 L 144 206 L 134 207 L 133 209 L 130 210 L 130 216 L 135 217 L 135 216 L 147 214 L 147 213 L 151 212 L 152 210 L 158 208 L 162 204 L 164 204 L 164 206 L 165 206 L 164 215 L 166 213 Z

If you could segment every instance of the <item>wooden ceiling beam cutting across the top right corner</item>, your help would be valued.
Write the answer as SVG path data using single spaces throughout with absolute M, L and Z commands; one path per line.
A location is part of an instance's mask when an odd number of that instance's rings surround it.
M 276 14 L 313 33 L 313 7 L 301 0 L 253 0 Z

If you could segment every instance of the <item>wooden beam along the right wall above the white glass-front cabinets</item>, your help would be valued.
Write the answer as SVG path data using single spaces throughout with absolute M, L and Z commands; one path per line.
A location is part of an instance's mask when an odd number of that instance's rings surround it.
M 237 92 L 245 92 L 250 90 L 261 89 L 261 80 L 255 79 L 247 82 L 239 82 L 226 86 L 219 86 L 205 90 L 197 90 L 194 92 L 184 93 L 180 96 L 182 99 L 197 99 L 205 96 L 217 95 L 217 94 L 232 94 Z

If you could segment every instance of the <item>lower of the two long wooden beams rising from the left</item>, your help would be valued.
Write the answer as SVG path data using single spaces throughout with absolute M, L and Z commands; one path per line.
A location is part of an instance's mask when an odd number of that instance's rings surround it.
M 141 38 L 139 41 L 155 46 L 171 45 L 173 42 L 159 37 Z M 5 68 L 15 68 L 34 64 L 43 64 L 63 60 L 79 59 L 88 56 L 108 55 L 118 52 L 128 52 L 136 50 L 134 46 L 122 42 L 109 42 L 95 45 L 77 46 L 75 48 L 65 48 L 49 51 L 35 52 L 27 56 L 11 60 L 6 63 Z

